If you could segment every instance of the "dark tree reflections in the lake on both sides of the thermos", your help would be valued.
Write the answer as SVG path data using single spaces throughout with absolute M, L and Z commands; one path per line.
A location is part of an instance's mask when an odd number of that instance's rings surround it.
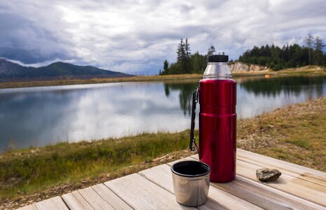
M 323 97 L 326 83 L 326 76 L 271 76 L 264 78 L 262 76 L 234 78 L 237 80 L 238 87 L 245 92 L 252 92 L 256 97 L 277 99 L 280 94 L 299 95 L 304 92 L 307 99 Z M 191 116 L 192 92 L 198 87 L 198 80 L 185 80 L 177 82 L 165 82 L 165 96 L 169 97 L 170 92 L 179 91 L 179 104 L 184 116 Z M 240 92 L 240 91 L 238 91 Z M 238 105 L 241 105 L 238 97 Z

